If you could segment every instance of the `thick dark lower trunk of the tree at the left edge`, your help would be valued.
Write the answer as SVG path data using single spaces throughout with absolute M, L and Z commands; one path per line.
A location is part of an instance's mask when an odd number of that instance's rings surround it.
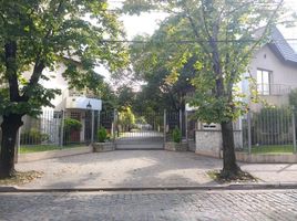
M 14 146 L 17 141 L 17 134 L 20 126 L 22 126 L 22 116 L 10 114 L 3 116 L 1 124 L 2 141 L 0 152 L 0 177 L 7 178 L 13 176 L 14 170 Z

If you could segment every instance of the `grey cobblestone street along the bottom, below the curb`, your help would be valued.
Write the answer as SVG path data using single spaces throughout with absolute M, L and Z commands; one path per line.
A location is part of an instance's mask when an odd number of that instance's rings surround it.
M 0 220 L 297 220 L 297 190 L 1 193 Z

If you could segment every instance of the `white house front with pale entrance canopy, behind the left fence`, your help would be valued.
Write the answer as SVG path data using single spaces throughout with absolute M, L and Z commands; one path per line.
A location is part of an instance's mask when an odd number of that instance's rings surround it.
M 57 95 L 51 103 L 54 108 L 43 107 L 42 114 L 38 119 L 24 116 L 24 125 L 21 128 L 21 145 L 31 145 L 35 143 L 32 139 L 30 131 L 39 131 L 41 135 L 45 135 L 48 138 L 44 140 L 47 144 L 61 144 L 61 143 L 89 143 L 94 134 L 99 120 L 98 116 L 102 109 L 102 101 L 93 95 L 88 88 L 78 91 L 70 88 L 68 82 L 63 78 L 62 73 L 65 71 L 64 65 L 60 65 L 54 71 L 44 70 L 44 75 L 49 81 L 40 80 L 47 88 L 61 90 L 61 95 Z M 30 73 L 25 73 L 24 76 L 30 78 Z M 65 131 L 61 134 L 61 128 L 64 127 L 64 120 L 66 118 L 75 119 L 81 123 L 81 128 L 78 130 Z M 93 127 L 93 128 L 92 128 Z M 64 138 L 63 138 L 64 136 Z M 66 139 L 65 139 L 66 136 Z M 23 144 L 22 144 L 23 143 Z

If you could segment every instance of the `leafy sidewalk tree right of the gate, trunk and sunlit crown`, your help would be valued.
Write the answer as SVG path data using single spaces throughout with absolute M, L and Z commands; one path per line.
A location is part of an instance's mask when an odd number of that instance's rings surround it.
M 240 171 L 236 164 L 233 120 L 247 109 L 236 88 L 246 72 L 256 48 L 265 42 L 270 28 L 279 18 L 281 1 L 270 0 L 127 0 L 123 10 L 140 13 L 151 9 L 163 10 L 178 18 L 172 35 L 181 28 L 196 53 L 194 67 L 198 72 L 192 81 L 196 93 L 191 104 L 198 107 L 197 117 L 207 123 L 218 123 L 223 138 L 222 176 L 232 178 Z M 263 29 L 259 29 L 263 27 Z M 166 43 L 166 42 L 165 42 Z M 193 52 L 193 49 L 196 52 Z M 177 63 L 178 64 L 178 63 Z M 172 65 L 173 76 L 180 65 Z

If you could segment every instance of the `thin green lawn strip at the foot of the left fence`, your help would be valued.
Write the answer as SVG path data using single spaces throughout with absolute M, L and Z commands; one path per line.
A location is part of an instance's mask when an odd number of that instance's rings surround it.
M 60 147 L 58 145 L 32 145 L 32 146 L 21 146 L 20 154 L 29 154 L 29 152 L 38 152 L 38 151 L 50 151 L 50 150 L 58 150 L 58 149 L 66 149 L 66 148 L 74 148 L 74 147 L 83 147 L 84 144 L 72 144 Z

